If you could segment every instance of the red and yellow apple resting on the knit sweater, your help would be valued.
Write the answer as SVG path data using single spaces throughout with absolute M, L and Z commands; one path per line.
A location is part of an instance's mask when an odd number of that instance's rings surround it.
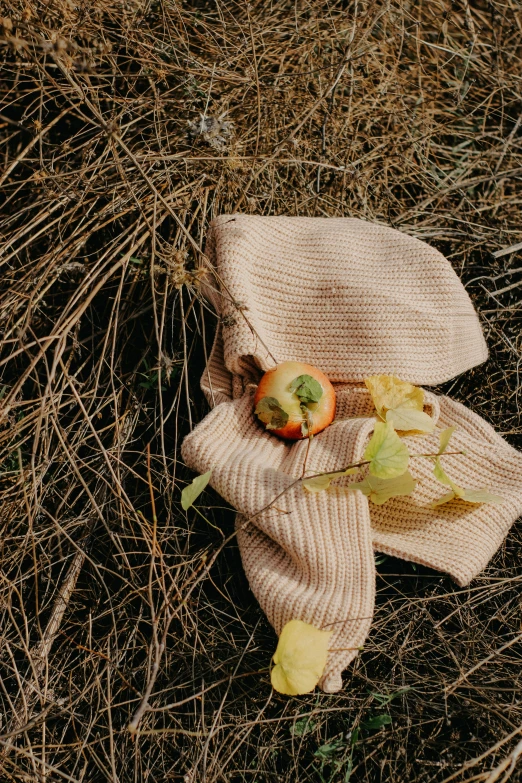
M 287 440 L 315 435 L 335 416 L 335 390 L 326 375 L 304 362 L 268 370 L 254 396 L 254 412 L 269 432 Z

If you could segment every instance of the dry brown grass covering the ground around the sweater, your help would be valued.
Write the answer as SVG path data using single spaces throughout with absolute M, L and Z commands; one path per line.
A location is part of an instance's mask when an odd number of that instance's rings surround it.
M 2 6 L 1 780 L 521 779 L 520 527 L 469 589 L 378 558 L 344 691 L 283 698 L 177 456 L 234 209 L 445 252 L 491 358 L 441 390 L 522 445 L 520 2 Z

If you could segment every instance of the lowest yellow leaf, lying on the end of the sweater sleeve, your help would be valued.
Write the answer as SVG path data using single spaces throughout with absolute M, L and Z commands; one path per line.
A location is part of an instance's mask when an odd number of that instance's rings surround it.
M 333 631 L 290 620 L 279 637 L 270 673 L 272 687 L 287 696 L 313 691 L 322 677 Z

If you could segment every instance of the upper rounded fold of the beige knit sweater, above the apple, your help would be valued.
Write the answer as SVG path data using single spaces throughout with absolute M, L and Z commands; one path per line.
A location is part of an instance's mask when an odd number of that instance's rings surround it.
M 487 359 L 450 263 L 395 229 L 356 218 L 222 215 L 206 252 L 222 294 L 212 298 L 224 363 L 235 375 L 251 359 L 267 370 L 275 356 L 316 365 L 332 382 L 393 368 L 430 385 Z

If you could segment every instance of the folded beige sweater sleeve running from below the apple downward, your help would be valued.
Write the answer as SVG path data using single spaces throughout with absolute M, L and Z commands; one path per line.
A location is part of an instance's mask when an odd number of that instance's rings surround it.
M 329 427 L 314 439 L 308 468 L 321 472 L 357 461 L 372 427 L 369 419 Z M 185 439 L 182 453 L 194 470 L 212 470 L 212 486 L 240 509 L 238 542 L 245 572 L 277 633 L 294 618 L 334 631 L 331 648 L 336 652 L 330 654 L 322 682 L 334 692 L 371 624 L 370 516 L 360 492 L 336 487 L 315 494 L 291 486 L 301 476 L 306 448 L 305 441 L 291 446 L 264 432 L 254 421 L 247 393 L 218 405 Z M 280 502 L 257 513 L 289 487 Z

